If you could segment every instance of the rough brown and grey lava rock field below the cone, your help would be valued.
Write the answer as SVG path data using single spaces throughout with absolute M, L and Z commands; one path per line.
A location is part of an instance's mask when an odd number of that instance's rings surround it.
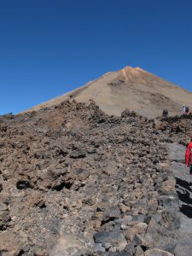
M 94 102 L 1 116 L 0 255 L 181 255 L 170 151 L 191 127 Z

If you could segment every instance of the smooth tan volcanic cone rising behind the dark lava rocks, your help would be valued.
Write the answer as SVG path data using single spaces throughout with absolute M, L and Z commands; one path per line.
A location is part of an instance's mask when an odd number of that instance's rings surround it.
M 117 72 L 85 84 L 66 95 L 44 102 L 28 111 L 55 106 L 64 100 L 88 103 L 94 100 L 108 114 L 120 116 L 125 108 L 147 117 L 160 116 L 167 108 L 171 115 L 180 114 L 184 105 L 192 108 L 192 93 L 136 67 Z

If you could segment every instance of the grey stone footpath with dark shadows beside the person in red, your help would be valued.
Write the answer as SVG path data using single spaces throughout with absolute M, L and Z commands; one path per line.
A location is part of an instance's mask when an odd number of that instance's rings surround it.
M 176 178 L 179 198 L 181 226 L 177 233 L 176 256 L 192 255 L 192 177 L 189 168 L 184 167 L 185 148 L 177 143 L 167 145 L 172 160 L 172 172 Z

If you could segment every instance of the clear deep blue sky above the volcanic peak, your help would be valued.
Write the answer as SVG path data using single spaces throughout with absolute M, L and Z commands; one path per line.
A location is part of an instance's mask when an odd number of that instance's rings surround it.
M 0 0 L 0 114 L 125 66 L 192 91 L 192 0 Z

